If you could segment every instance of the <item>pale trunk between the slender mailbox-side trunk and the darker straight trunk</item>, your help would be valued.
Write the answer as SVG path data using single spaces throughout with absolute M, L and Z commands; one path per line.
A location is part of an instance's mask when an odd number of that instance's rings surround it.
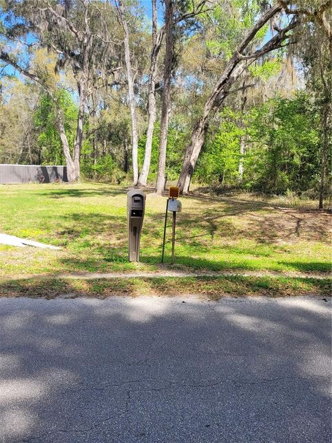
M 152 138 L 154 136 L 154 124 L 156 123 L 156 71 L 157 59 L 160 51 L 161 42 L 163 41 L 163 28 L 157 35 L 157 6 L 156 0 L 152 0 L 152 48 L 150 56 L 150 72 L 149 72 L 149 89 L 147 111 L 149 115 L 147 123 L 147 140 L 145 142 L 145 155 L 138 185 L 147 186 L 147 177 L 149 175 L 152 151 Z

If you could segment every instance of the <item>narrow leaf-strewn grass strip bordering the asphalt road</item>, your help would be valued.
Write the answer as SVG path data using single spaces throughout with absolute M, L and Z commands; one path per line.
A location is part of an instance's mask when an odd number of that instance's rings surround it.
M 30 278 L 12 280 L 0 286 L 0 296 L 29 298 L 76 298 L 92 296 L 187 296 L 200 295 L 208 300 L 224 296 L 330 296 L 331 281 L 314 278 L 181 277 L 72 280 Z

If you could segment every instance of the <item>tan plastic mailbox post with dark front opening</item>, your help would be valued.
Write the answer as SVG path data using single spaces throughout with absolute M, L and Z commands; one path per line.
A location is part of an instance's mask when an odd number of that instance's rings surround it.
M 140 233 L 145 211 L 145 193 L 139 189 L 127 192 L 128 258 L 140 261 Z

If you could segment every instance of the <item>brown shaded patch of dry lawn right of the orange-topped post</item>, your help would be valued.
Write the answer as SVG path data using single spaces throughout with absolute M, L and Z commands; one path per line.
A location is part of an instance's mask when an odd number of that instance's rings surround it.
M 281 209 L 266 204 L 225 200 L 222 208 L 209 208 L 185 213 L 178 217 L 178 226 L 196 228 L 202 226 L 206 233 L 228 238 L 254 239 L 260 244 L 294 243 L 301 239 L 330 244 L 331 215 L 312 211 Z M 262 212 L 264 211 L 264 212 Z M 225 217 L 235 217 L 237 224 Z M 243 225 L 243 226 L 241 226 Z M 189 237 L 190 238 L 190 237 Z

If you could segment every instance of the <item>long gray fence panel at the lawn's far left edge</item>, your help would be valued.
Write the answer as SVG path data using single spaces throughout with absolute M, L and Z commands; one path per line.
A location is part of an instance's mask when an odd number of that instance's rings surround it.
M 54 183 L 68 181 L 66 166 L 0 165 L 0 183 Z

